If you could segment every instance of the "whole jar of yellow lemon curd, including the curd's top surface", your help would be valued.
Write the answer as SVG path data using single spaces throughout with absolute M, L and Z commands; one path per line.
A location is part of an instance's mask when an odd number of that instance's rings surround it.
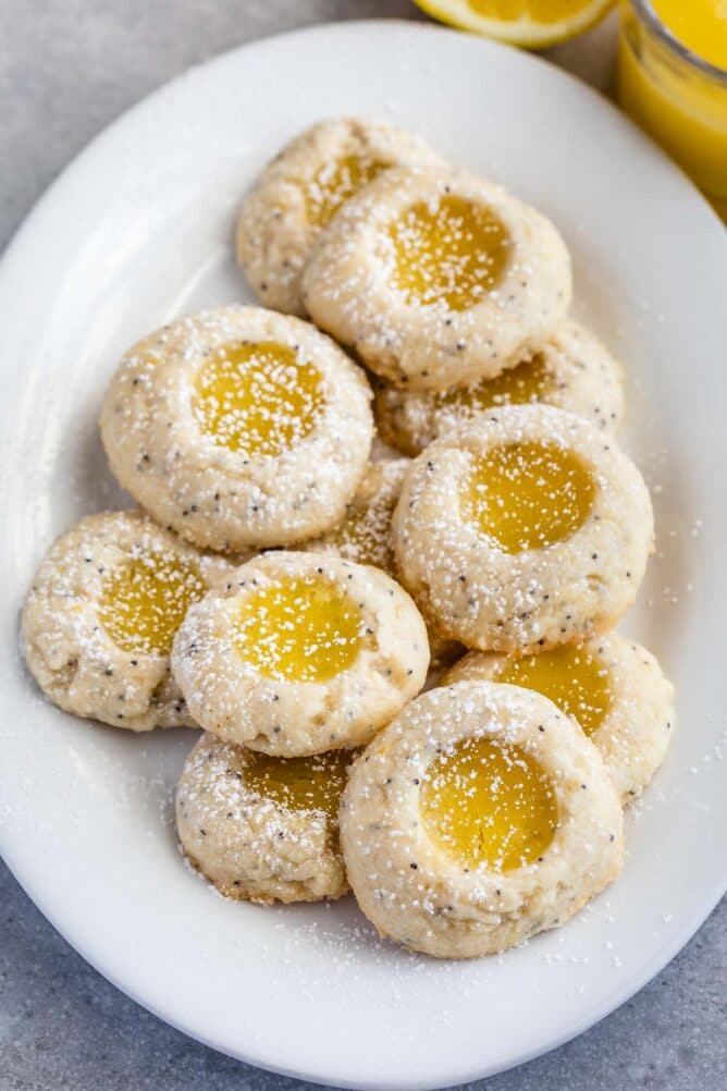
M 727 218 L 727 5 L 622 0 L 623 108 Z

